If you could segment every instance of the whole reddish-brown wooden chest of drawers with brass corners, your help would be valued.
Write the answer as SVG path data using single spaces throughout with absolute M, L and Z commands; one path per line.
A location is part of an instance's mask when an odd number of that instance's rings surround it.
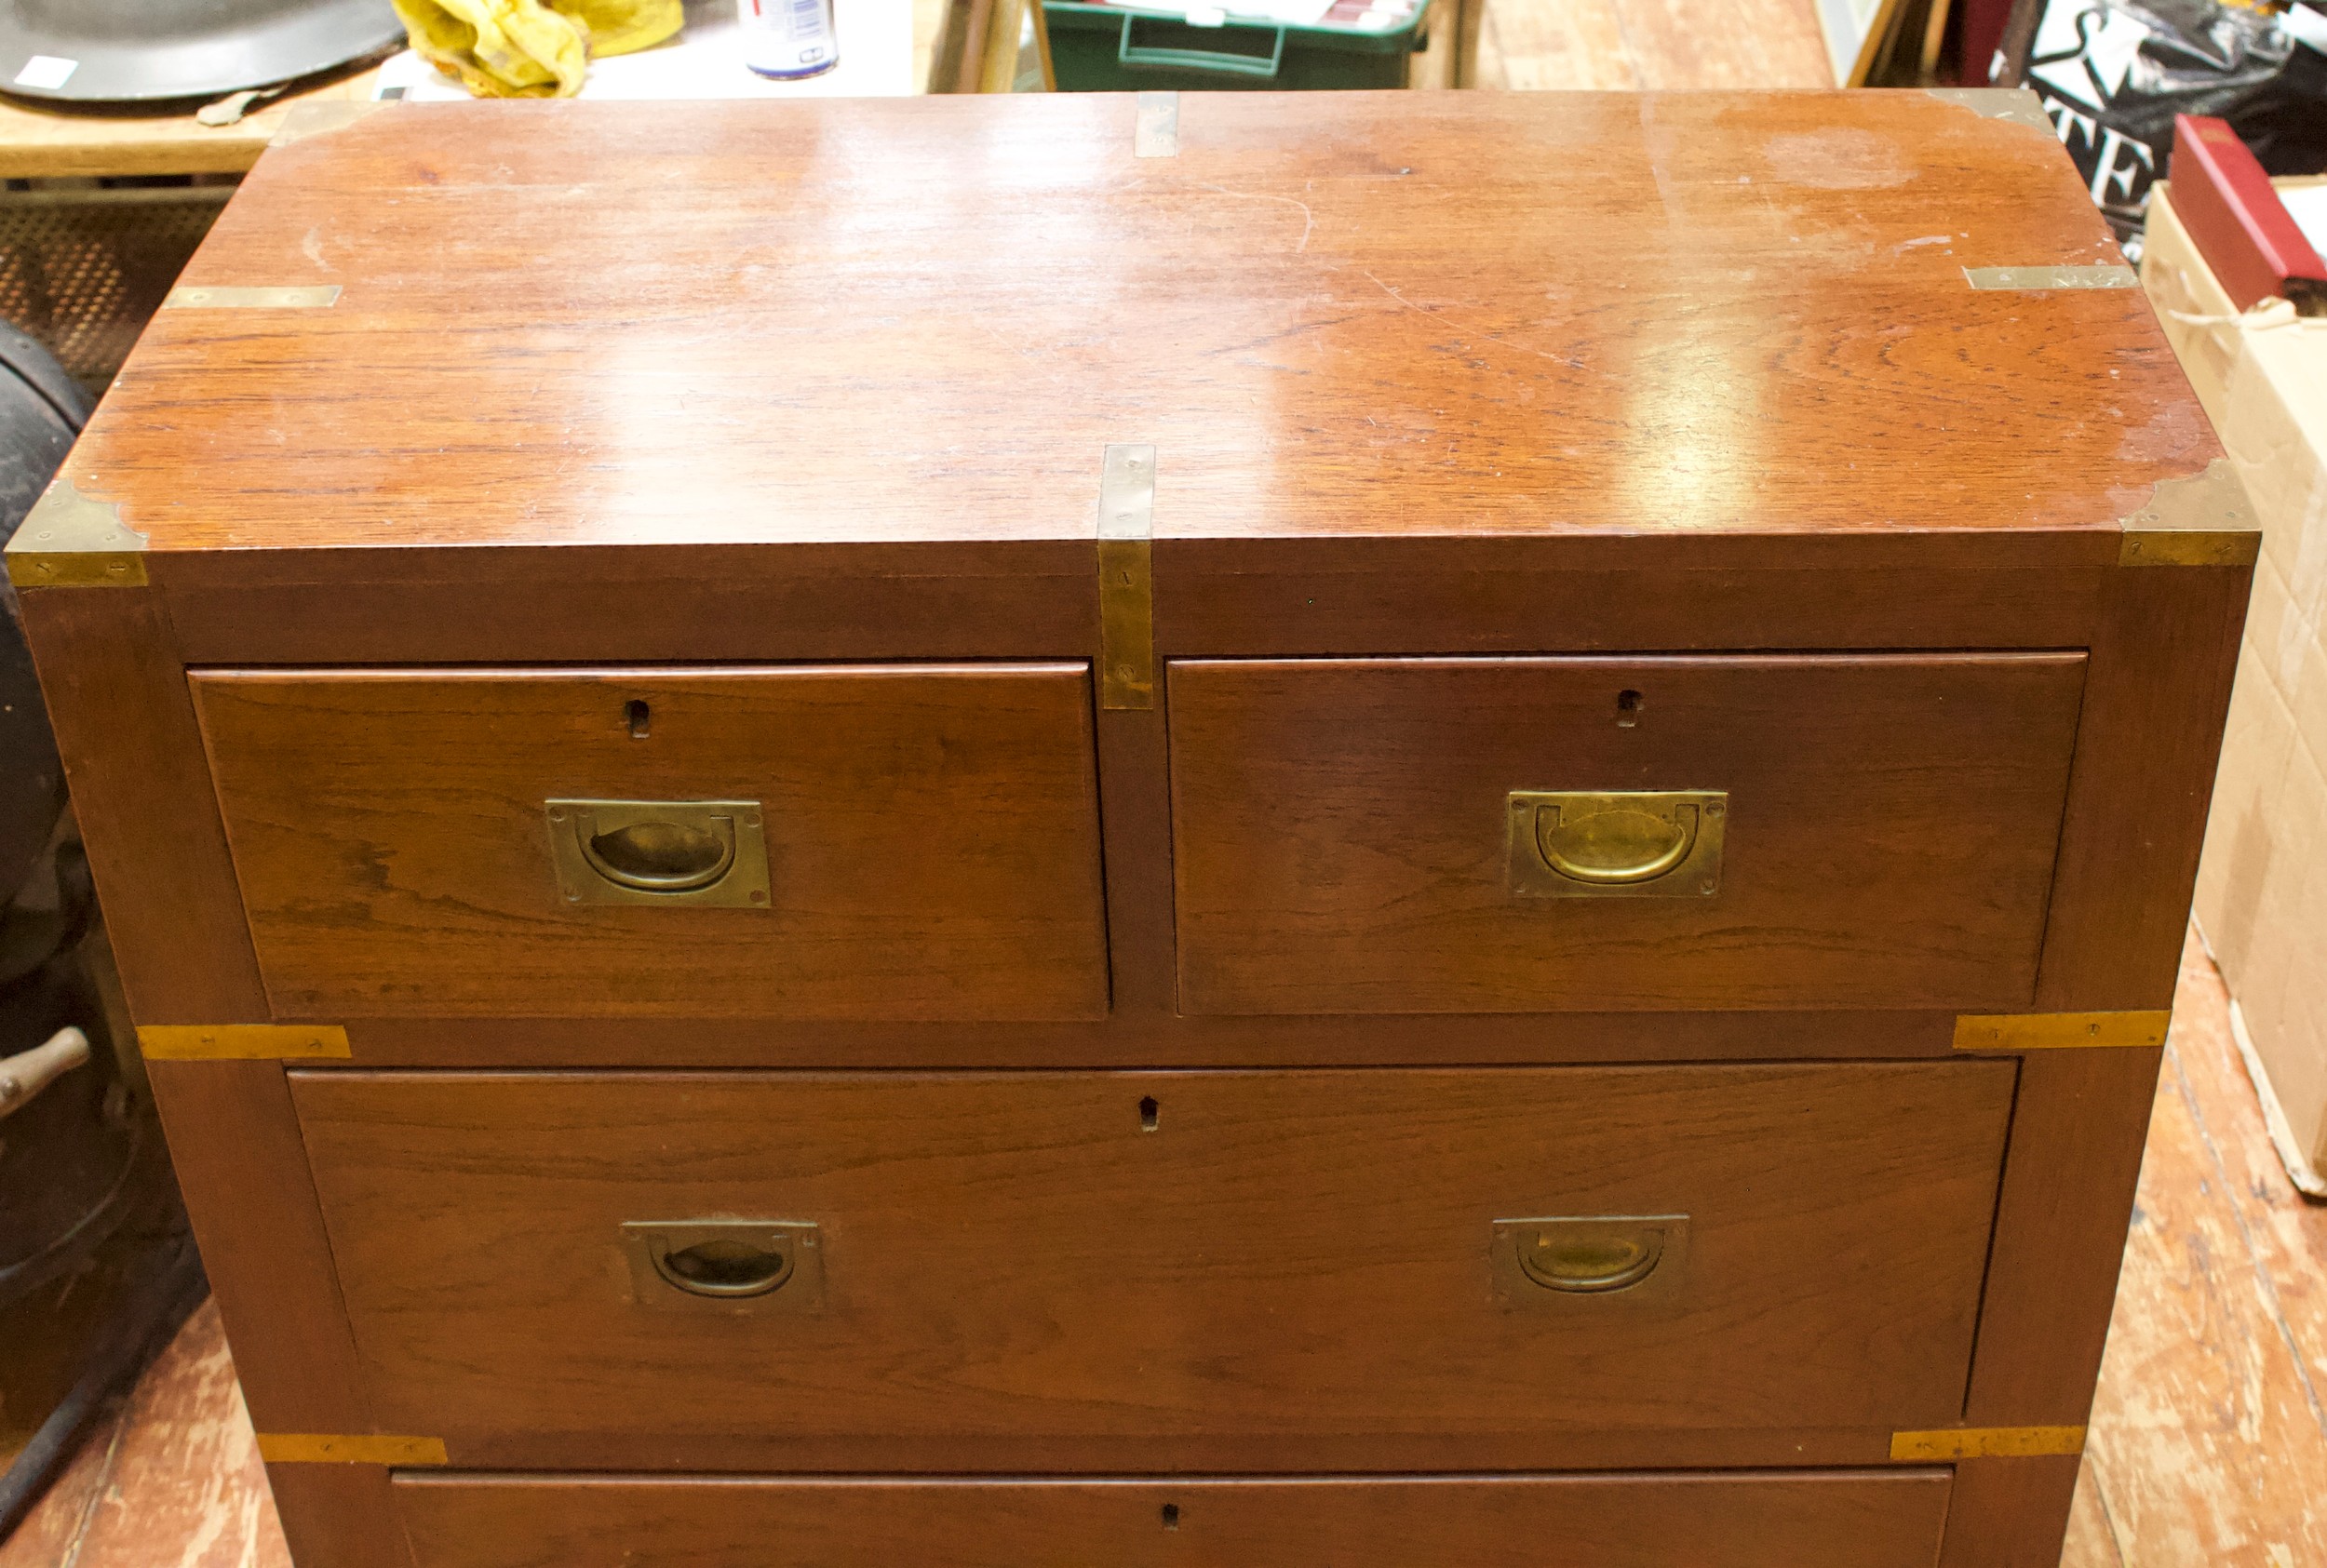
M 2129 284 L 2020 95 L 293 126 L 9 575 L 300 1566 L 2050 1563 Z

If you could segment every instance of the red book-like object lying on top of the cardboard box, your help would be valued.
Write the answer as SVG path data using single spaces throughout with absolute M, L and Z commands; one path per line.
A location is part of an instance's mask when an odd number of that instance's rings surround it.
M 2227 121 L 2176 114 L 2166 170 L 2173 214 L 2232 305 L 2246 309 L 2276 293 L 2306 316 L 2327 314 L 2327 263 Z

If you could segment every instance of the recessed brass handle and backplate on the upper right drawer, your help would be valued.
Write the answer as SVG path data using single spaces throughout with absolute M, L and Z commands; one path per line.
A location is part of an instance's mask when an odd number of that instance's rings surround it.
M 1722 889 L 1720 789 L 1515 789 L 1506 810 L 1520 898 L 1710 898 Z

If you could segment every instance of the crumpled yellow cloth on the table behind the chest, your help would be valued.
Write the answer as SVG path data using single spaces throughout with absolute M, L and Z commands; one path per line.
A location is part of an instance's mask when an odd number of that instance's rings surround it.
M 679 30 L 679 0 L 393 0 L 412 49 L 477 98 L 572 98 L 593 54 Z

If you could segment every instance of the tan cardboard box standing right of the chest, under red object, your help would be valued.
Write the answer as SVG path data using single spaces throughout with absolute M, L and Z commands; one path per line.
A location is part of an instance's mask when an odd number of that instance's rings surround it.
M 2327 1198 L 2327 319 L 2234 312 L 2164 184 L 2141 284 L 2262 516 L 2197 919 L 2278 1152 Z

